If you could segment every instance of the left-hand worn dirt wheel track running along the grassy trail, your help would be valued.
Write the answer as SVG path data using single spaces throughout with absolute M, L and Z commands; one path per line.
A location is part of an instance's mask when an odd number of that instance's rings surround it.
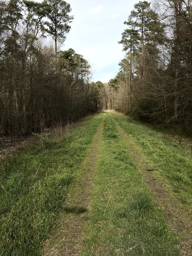
M 83 246 L 84 230 L 87 226 L 86 215 L 90 210 L 90 195 L 94 183 L 94 169 L 99 154 L 99 144 L 102 139 L 103 120 L 83 166 L 76 173 L 76 180 L 70 186 L 64 210 L 59 219 L 57 233 L 53 239 L 45 242 L 44 256 L 77 256 Z M 54 246 L 52 246 L 54 244 Z

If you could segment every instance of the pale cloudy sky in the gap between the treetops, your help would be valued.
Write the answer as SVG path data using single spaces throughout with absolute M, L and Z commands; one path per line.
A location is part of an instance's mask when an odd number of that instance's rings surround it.
M 134 4 L 139 0 L 66 0 L 74 20 L 61 50 L 73 48 L 86 58 L 93 71 L 93 81 L 108 82 L 119 71 L 124 57 L 121 33 Z

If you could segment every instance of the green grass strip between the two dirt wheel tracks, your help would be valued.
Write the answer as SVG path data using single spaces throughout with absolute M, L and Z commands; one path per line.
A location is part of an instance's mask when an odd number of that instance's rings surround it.
M 181 255 L 175 233 L 107 114 L 81 256 Z

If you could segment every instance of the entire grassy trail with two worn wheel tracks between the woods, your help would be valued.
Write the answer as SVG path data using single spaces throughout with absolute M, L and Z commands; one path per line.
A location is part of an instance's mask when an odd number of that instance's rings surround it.
M 191 255 L 189 148 L 115 113 L 45 143 L 3 165 L 0 256 Z

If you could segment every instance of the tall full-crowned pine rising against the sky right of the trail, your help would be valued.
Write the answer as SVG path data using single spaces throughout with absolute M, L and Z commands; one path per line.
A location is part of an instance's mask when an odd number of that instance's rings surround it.
M 150 55 L 153 53 L 154 56 L 158 54 L 158 46 L 165 41 L 164 27 L 160 23 L 157 13 L 150 8 L 150 3 L 147 1 L 140 1 L 134 5 L 134 8 L 128 20 L 124 22 L 129 28 L 122 33 L 122 40 L 119 43 L 123 44 L 123 50 L 131 54 L 141 53 L 137 73 L 140 76 L 141 87 L 144 87 L 146 54 L 148 52 Z M 130 58 L 131 73 L 132 58 Z

